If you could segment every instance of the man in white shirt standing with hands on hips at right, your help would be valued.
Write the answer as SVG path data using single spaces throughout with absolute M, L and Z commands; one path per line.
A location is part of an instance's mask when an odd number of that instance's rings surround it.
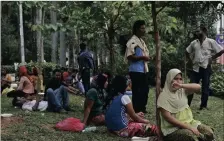
M 191 83 L 199 83 L 202 79 L 202 96 L 200 110 L 207 109 L 209 96 L 209 84 L 211 76 L 211 63 L 224 53 L 224 49 L 213 39 L 207 37 L 206 27 L 200 27 L 196 32 L 197 39 L 187 47 L 187 57 L 193 64 Z M 191 104 L 193 94 L 188 96 L 188 104 Z

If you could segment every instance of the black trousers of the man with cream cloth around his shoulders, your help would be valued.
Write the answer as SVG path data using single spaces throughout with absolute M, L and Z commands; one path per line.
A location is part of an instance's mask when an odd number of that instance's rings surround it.
M 145 112 L 148 101 L 149 85 L 145 73 L 130 72 L 132 81 L 132 103 L 136 113 Z

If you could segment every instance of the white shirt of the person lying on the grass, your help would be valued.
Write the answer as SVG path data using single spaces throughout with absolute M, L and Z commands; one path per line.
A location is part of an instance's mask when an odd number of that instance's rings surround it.
M 27 101 L 23 104 L 22 109 L 23 110 L 28 110 L 28 111 L 33 111 L 33 106 L 35 105 L 36 100 L 32 100 L 32 101 Z M 38 110 L 40 111 L 45 111 L 48 107 L 48 102 L 47 101 L 40 101 L 39 105 L 38 105 Z

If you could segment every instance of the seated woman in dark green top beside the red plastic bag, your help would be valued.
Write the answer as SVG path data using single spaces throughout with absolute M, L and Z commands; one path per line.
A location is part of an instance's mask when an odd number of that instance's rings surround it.
M 84 103 L 84 118 L 85 125 L 94 124 L 104 125 L 105 118 L 103 114 L 103 104 L 105 97 L 105 89 L 107 88 L 107 76 L 99 74 L 96 80 L 96 86 L 91 88 L 87 94 Z

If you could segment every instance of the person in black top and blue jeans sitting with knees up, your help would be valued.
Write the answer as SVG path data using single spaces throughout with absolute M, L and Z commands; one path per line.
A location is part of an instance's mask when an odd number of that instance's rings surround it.
M 71 111 L 68 92 L 75 94 L 73 88 L 63 83 L 60 70 L 54 70 L 54 77 L 45 88 L 44 100 L 48 101 L 48 111 Z

